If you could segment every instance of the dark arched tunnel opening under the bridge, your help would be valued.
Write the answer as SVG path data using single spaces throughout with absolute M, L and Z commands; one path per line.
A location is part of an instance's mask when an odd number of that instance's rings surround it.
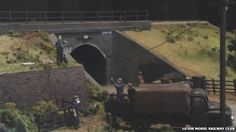
M 106 55 L 98 47 L 92 44 L 80 45 L 71 52 L 71 56 L 83 64 L 99 84 L 106 84 Z

